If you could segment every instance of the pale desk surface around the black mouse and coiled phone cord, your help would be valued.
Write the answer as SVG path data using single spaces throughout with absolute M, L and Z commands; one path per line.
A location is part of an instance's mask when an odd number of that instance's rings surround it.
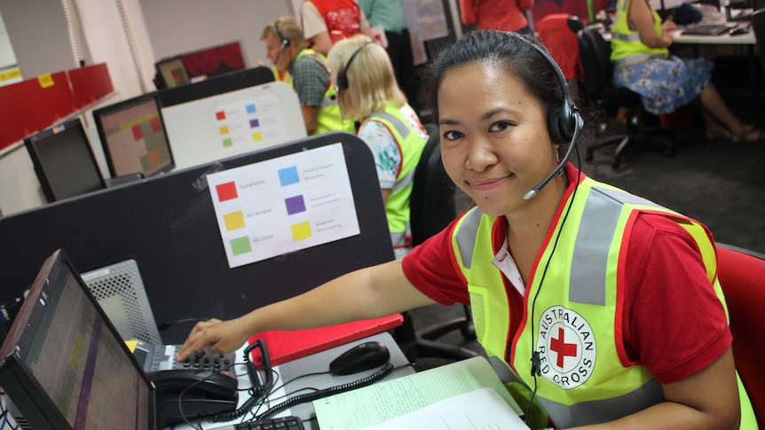
M 287 387 L 281 387 L 282 384 L 290 380 L 293 380 L 296 377 L 308 375 L 311 373 L 317 373 L 321 371 L 328 371 L 329 363 L 332 360 L 334 360 L 336 356 L 343 354 L 343 352 L 345 352 L 346 350 L 348 350 L 354 345 L 358 345 L 359 343 L 367 342 L 369 340 L 377 340 L 385 344 L 390 350 L 390 363 L 396 367 L 396 369 L 390 375 L 386 376 L 384 379 L 381 379 L 381 380 L 398 378 L 400 376 L 406 376 L 406 375 L 414 373 L 414 369 L 411 366 L 407 366 L 407 364 L 409 364 L 409 361 L 406 359 L 406 356 L 404 356 L 404 353 L 401 351 L 401 348 L 398 348 L 398 344 L 390 336 L 390 333 L 382 332 L 362 340 L 355 340 L 353 342 L 350 342 L 340 347 L 327 349 L 326 351 L 319 352 L 312 356 L 306 356 L 304 358 L 299 358 L 297 360 L 293 360 L 291 362 L 280 364 L 279 366 L 275 366 L 274 371 L 277 372 L 277 374 L 279 375 L 279 378 L 274 379 L 274 387 L 280 387 L 280 388 L 275 390 L 273 394 L 270 396 L 270 399 L 272 399 L 271 406 L 275 406 L 287 400 L 288 397 L 286 397 L 285 395 L 288 395 L 288 394 L 299 395 L 299 394 L 305 394 L 310 392 L 310 391 L 301 391 L 299 393 L 296 393 L 296 391 L 299 390 L 300 388 L 312 387 L 317 389 L 323 389 L 328 387 L 334 387 L 336 385 L 347 384 L 355 380 L 365 378 L 371 375 L 372 373 L 374 373 L 375 371 L 379 370 L 379 369 L 373 369 L 371 371 L 363 371 L 353 375 L 346 375 L 346 376 L 333 376 L 333 375 L 329 375 L 328 373 L 319 374 L 319 375 L 311 375 L 305 378 L 296 379 L 294 382 L 288 383 Z M 241 354 L 242 354 L 242 350 L 237 351 L 238 362 L 241 359 L 240 358 Z M 237 368 L 237 374 L 239 375 L 240 373 L 239 370 L 243 368 L 243 366 L 237 365 L 236 368 Z M 241 375 L 238 377 L 238 379 L 239 379 L 240 389 L 249 387 L 249 379 L 246 372 L 241 371 Z M 242 403 L 247 401 L 248 394 L 246 392 L 241 392 L 240 395 L 241 397 L 239 399 L 239 403 L 241 405 Z M 266 409 L 268 408 L 263 407 L 261 408 L 260 412 L 263 412 Z M 288 410 L 282 410 L 280 413 L 274 414 L 273 416 L 283 417 L 288 415 L 295 415 L 297 417 L 302 418 L 306 429 L 312 430 L 312 429 L 319 428 L 316 422 L 316 417 L 313 413 L 313 404 L 310 402 L 297 404 L 294 407 Z M 251 418 L 251 416 L 245 416 L 242 418 Z M 210 423 L 202 419 L 201 428 L 214 429 L 217 426 L 224 426 L 225 424 L 235 424 L 235 423 L 241 422 L 242 418 L 235 419 L 228 423 Z M 194 422 L 194 424 L 196 423 Z M 173 430 L 190 430 L 192 427 L 184 424 L 184 425 L 177 425 L 177 426 L 173 426 L 169 428 L 172 428 Z

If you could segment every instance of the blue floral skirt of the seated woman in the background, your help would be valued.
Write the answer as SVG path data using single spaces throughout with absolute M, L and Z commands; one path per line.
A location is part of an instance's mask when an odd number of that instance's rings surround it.
M 673 113 L 690 104 L 712 78 L 714 64 L 708 59 L 649 59 L 614 70 L 613 82 L 641 95 L 646 111 Z

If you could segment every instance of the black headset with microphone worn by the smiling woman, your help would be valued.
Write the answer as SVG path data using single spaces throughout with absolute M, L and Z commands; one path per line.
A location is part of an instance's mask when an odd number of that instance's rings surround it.
M 542 187 L 548 184 L 553 177 L 560 174 L 563 170 L 566 162 L 571 158 L 574 148 L 576 147 L 577 140 L 582 127 L 584 127 L 584 120 L 581 117 L 581 113 L 576 105 L 574 105 L 571 92 L 569 91 L 566 78 L 561 68 L 557 65 L 556 60 L 550 57 L 548 51 L 544 50 L 539 44 L 524 38 L 516 33 L 510 33 L 515 35 L 518 39 L 531 45 L 536 51 L 540 53 L 543 59 L 548 62 L 548 65 L 553 69 L 553 73 L 556 74 L 558 85 L 561 87 L 561 104 L 560 106 L 551 107 L 548 109 L 548 132 L 553 142 L 559 145 L 563 145 L 566 142 L 569 143 L 568 150 L 566 151 L 564 158 L 558 163 L 550 174 L 542 179 L 542 181 L 533 187 L 529 192 L 526 192 L 524 199 L 531 199 L 537 195 Z

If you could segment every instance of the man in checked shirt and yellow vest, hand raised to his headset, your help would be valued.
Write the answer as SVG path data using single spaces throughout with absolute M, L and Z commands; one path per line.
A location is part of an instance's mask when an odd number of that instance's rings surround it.
M 309 136 L 327 131 L 356 132 L 353 121 L 343 121 L 337 106 L 335 87 L 329 78 L 327 59 L 307 48 L 303 30 L 295 17 L 284 16 L 264 27 L 266 56 L 277 74 L 288 74 L 297 92 Z

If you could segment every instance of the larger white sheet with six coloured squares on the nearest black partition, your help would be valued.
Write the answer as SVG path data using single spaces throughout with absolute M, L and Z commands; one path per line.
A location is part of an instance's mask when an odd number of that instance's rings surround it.
M 358 235 L 342 144 L 207 176 L 229 267 Z

